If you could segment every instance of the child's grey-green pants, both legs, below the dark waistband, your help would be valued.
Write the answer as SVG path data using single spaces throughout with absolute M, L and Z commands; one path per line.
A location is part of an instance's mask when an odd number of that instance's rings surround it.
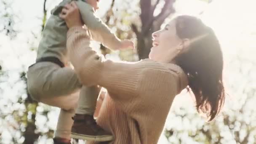
M 28 91 L 33 99 L 61 108 L 56 137 L 70 138 L 75 113 L 93 115 L 99 89 L 82 86 L 73 69 L 61 68 L 52 62 L 38 62 L 29 67 L 27 77 Z

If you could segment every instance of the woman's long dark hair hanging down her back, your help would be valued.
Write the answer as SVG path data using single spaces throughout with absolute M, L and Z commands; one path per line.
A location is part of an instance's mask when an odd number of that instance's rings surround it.
M 223 56 L 219 41 L 210 27 L 194 16 L 177 16 L 176 32 L 181 39 L 193 39 L 188 51 L 175 58 L 189 79 L 189 91 L 195 95 L 196 108 L 203 112 L 208 121 L 213 120 L 220 112 L 225 101 L 222 83 Z

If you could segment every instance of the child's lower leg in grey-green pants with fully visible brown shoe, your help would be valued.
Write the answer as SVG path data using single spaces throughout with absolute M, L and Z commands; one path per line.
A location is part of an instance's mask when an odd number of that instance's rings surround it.
M 72 138 L 89 141 L 111 141 L 114 138 L 110 132 L 104 131 L 97 125 L 96 120 L 93 118 L 99 91 L 96 86 L 89 88 L 83 86 L 81 88 L 74 116 L 75 121 L 71 129 Z

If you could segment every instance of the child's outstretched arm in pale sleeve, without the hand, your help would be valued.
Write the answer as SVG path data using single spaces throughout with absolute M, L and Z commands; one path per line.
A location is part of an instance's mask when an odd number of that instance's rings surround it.
M 121 41 L 110 32 L 110 29 L 99 18 L 94 15 L 93 8 L 82 0 L 76 1 L 81 17 L 91 32 L 93 40 L 101 42 L 109 49 L 117 50 L 122 47 Z

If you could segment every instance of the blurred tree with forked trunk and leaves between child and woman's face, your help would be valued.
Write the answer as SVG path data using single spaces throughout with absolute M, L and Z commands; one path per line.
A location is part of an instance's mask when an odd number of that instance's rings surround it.
M 117 37 L 121 39 L 136 37 L 139 59 L 146 59 L 152 47 L 152 33 L 159 30 L 165 19 L 175 12 L 174 2 L 175 0 L 140 0 L 137 4 L 131 5 L 131 0 L 123 0 L 122 5 L 125 8 L 118 8 L 115 0 L 112 0 L 111 8 L 103 19 L 109 27 L 115 29 Z M 140 11 L 134 7 L 139 7 Z M 137 13 L 141 13 L 139 17 Z M 104 50 L 104 55 L 109 53 L 103 45 L 101 50 Z

